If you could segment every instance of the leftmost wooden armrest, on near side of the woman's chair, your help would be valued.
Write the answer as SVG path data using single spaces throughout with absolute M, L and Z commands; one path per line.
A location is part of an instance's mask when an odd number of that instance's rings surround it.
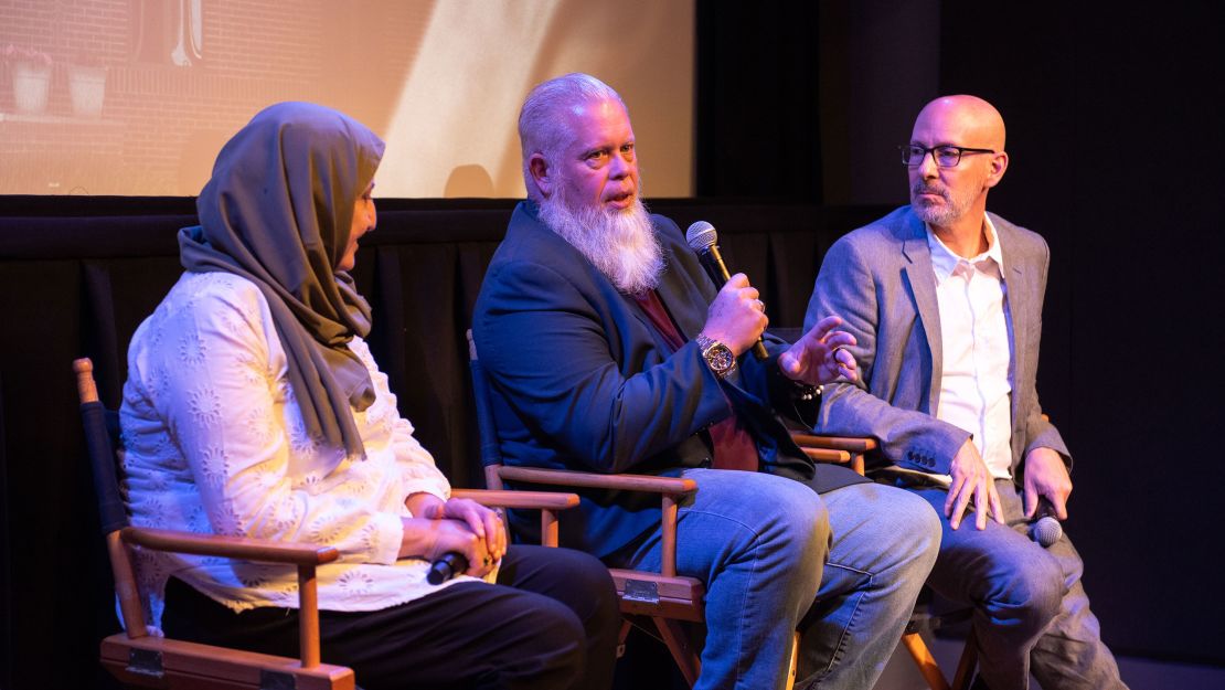
M 146 549 L 201 556 L 224 556 L 294 565 L 322 565 L 341 558 L 341 552 L 336 547 L 196 534 L 152 527 L 124 527 L 120 536 L 125 543 L 137 544 Z

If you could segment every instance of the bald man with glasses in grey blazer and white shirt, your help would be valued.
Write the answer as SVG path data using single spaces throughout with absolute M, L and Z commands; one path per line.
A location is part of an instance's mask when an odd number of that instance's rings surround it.
M 807 321 L 839 314 L 858 381 L 826 386 L 817 428 L 875 436 L 878 479 L 943 516 L 929 583 L 974 607 L 979 684 L 1125 688 L 1066 536 L 1028 536 L 1039 499 L 1060 520 L 1068 455 L 1035 390 L 1050 252 L 987 213 L 1008 169 L 1000 113 L 973 96 L 929 103 L 902 147 L 910 205 L 826 254 Z

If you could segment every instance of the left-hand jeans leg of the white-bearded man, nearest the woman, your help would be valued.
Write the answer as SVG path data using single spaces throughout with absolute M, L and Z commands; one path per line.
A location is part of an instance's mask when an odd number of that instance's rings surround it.
M 697 482 L 680 506 L 676 571 L 706 582 L 706 647 L 693 690 L 782 688 L 791 635 L 821 581 L 829 522 L 807 487 L 757 472 L 687 469 Z M 658 570 L 659 532 L 620 567 Z

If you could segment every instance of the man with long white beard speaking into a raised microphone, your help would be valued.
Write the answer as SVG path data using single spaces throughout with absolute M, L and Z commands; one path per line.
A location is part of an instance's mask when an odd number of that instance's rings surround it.
M 715 289 L 675 223 L 639 199 L 620 96 L 588 75 L 535 87 L 519 115 L 528 200 L 511 218 L 473 322 L 508 464 L 686 477 L 676 569 L 706 583 L 696 688 L 871 688 L 937 548 L 931 509 L 849 469 L 815 467 L 783 417 L 856 375 L 826 317 L 794 346 L 766 336 L 758 293 Z M 657 496 L 587 491 L 562 543 L 658 569 Z M 526 526 L 524 526 L 526 527 Z

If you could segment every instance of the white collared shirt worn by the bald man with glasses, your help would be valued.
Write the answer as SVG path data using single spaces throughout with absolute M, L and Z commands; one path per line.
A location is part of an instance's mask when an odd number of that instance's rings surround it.
M 927 229 L 944 351 L 936 418 L 973 434 L 995 478 L 1012 476 L 1012 359 L 1003 255 L 984 218 L 987 250 L 963 259 Z

